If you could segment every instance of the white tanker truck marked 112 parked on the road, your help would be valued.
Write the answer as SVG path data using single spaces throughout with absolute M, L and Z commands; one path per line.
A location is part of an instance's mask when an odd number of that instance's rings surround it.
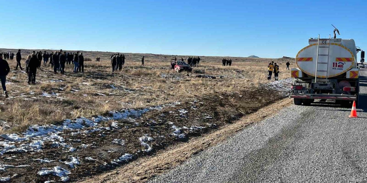
M 334 33 L 335 34 L 335 33 Z M 309 45 L 295 57 L 298 68 L 291 68 L 294 78 L 290 98 L 295 105 L 310 105 L 315 99 L 333 100 L 340 105 L 359 104 L 359 68 L 353 39 L 310 38 Z M 361 51 L 361 60 L 364 51 Z

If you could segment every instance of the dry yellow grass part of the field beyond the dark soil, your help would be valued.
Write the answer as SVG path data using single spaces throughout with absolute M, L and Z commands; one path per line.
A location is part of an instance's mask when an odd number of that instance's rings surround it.
M 8 51 L 16 52 L 0 49 L 0 52 Z M 31 52 L 23 50 L 22 57 Z M 32 124 L 101 115 L 111 110 L 145 108 L 208 94 L 255 89 L 259 83 L 269 82 L 266 67 L 270 61 L 283 63 L 280 79 L 290 77 L 290 72 L 285 70 L 286 59 L 231 57 L 232 66 L 222 67 L 221 57 L 203 56 L 200 66 L 192 73 L 176 73 L 169 69 L 174 55 L 125 53 L 123 70 L 112 72 L 109 56 L 113 53 L 83 54 L 93 60 L 85 62 L 84 73 L 73 73 L 73 64 L 66 65 L 65 75 L 53 74 L 51 67 L 42 66 L 37 70 L 36 85 L 28 85 L 26 73 L 12 70 L 16 61 L 9 60 L 12 71 L 7 76 L 7 90 L 10 98 L 0 97 L 0 120 L 7 123 L 0 126 L 0 133 L 4 130 L 17 132 Z M 145 67 L 140 66 L 143 55 Z M 95 57 L 101 57 L 101 62 L 95 62 Z M 187 58 L 177 56 L 181 57 Z M 24 63 L 22 60 L 23 67 Z M 195 75 L 199 74 L 219 79 L 196 78 Z M 49 95 L 42 96 L 43 93 Z

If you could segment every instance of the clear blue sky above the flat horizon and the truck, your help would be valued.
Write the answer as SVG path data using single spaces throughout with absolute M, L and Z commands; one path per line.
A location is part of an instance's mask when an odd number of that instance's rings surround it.
M 28 0 L 0 4 L 5 5 L 0 11 L 0 48 L 295 57 L 308 45 L 308 38 L 332 34 L 334 24 L 340 38 L 353 38 L 367 50 L 367 3 L 363 1 Z

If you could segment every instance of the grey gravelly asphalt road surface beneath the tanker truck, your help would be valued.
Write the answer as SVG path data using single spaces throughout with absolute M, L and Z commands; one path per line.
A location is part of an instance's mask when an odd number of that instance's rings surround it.
M 150 183 L 367 182 L 367 69 L 359 118 L 333 103 L 291 105 Z

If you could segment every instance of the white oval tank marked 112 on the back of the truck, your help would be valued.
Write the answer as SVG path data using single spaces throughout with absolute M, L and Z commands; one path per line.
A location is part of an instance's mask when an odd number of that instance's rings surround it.
M 313 77 L 316 74 L 317 41 L 317 39 L 309 39 L 309 45 L 301 49 L 296 56 L 297 67 Z M 329 39 L 320 39 L 317 77 L 331 78 L 356 68 L 356 57 L 354 40 L 331 39 L 329 44 Z

